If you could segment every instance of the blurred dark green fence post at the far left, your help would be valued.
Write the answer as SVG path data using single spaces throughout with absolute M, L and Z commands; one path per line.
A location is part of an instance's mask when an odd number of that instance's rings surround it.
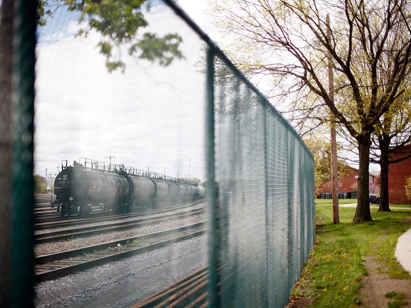
M 37 2 L 15 2 L 12 68 L 11 306 L 33 306 L 33 135 Z

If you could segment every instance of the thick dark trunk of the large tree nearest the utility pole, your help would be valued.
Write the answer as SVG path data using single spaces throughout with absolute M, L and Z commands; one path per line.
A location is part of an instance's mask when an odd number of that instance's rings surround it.
M 369 207 L 369 148 L 371 134 L 359 137 L 360 166 L 358 171 L 358 203 L 352 222 L 372 221 Z

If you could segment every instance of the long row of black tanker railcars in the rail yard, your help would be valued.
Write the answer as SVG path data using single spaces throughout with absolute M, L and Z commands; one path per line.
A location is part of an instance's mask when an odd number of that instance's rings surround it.
M 123 165 L 85 159 L 73 166 L 62 161 L 54 180 L 55 200 L 51 208 L 65 214 L 88 215 L 95 207 L 102 211 L 130 211 L 132 208 L 181 204 L 204 196 L 204 187 L 181 179 Z

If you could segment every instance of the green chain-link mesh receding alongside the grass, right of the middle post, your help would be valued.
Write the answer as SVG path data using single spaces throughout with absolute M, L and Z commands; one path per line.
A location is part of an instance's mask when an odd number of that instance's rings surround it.
M 283 307 L 313 247 L 313 158 L 231 64 L 210 57 L 209 74 L 216 186 L 210 229 L 217 229 L 209 248 L 212 281 L 220 283 L 212 305 Z

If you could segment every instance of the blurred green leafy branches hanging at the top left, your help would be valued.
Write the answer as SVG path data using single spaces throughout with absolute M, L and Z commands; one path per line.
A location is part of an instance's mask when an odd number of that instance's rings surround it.
M 150 0 L 55 0 L 39 3 L 39 25 L 47 23 L 47 17 L 61 7 L 68 11 L 81 12 L 79 22 L 86 22 L 78 32 L 87 36 L 94 30 L 101 34 L 98 43 L 100 53 L 106 58 L 108 71 L 121 69 L 125 64 L 120 57 L 120 47 L 127 46 L 130 55 L 160 65 L 170 65 L 174 59 L 182 59 L 180 50 L 182 38 L 177 33 L 166 33 L 159 36 L 153 32 L 139 33 L 148 26 L 142 12 L 143 4 L 150 7 Z

